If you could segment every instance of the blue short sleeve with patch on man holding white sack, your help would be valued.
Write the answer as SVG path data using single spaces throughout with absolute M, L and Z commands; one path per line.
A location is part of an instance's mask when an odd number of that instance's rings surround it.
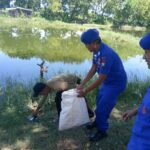
M 113 65 L 113 61 L 114 61 L 114 57 L 111 53 L 108 53 L 104 57 L 101 57 L 100 69 L 98 74 L 109 74 L 110 69 Z

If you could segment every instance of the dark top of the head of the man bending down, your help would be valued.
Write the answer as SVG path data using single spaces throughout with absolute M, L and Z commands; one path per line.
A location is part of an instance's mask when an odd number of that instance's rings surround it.
M 33 87 L 33 97 L 37 97 L 39 93 L 46 87 L 45 83 L 38 82 Z

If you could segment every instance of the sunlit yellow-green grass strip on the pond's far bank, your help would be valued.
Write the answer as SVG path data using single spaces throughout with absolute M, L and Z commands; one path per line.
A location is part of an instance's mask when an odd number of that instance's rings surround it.
M 5 29 L 9 29 L 10 27 L 18 27 L 21 29 L 27 29 L 27 28 L 32 28 L 32 27 L 38 27 L 38 28 L 57 28 L 57 29 L 74 29 L 74 30 L 85 30 L 89 27 L 93 28 L 100 28 L 102 30 L 112 30 L 113 25 L 112 24 L 77 24 L 77 23 L 65 23 L 62 21 L 49 21 L 46 20 L 42 17 L 18 17 L 18 18 L 13 18 L 10 16 L 0 16 L 0 22 L 1 25 L 0 27 L 3 27 Z M 118 30 L 122 31 L 146 31 L 145 27 L 138 27 L 138 26 L 127 26 L 124 25 L 120 27 Z

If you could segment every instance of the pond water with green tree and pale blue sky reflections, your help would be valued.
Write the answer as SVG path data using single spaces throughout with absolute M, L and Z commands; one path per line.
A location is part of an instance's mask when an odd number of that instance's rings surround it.
M 3 84 L 7 78 L 23 83 L 39 79 L 40 67 L 37 64 L 43 60 L 44 66 L 48 68 L 43 75 L 45 79 L 60 72 L 84 76 L 91 66 L 91 54 L 80 50 L 83 49 L 79 42 L 81 33 L 37 28 L 25 32 L 17 28 L 0 30 L 0 83 Z M 150 75 L 150 70 L 140 55 L 128 58 L 123 64 L 129 81 L 143 81 Z

